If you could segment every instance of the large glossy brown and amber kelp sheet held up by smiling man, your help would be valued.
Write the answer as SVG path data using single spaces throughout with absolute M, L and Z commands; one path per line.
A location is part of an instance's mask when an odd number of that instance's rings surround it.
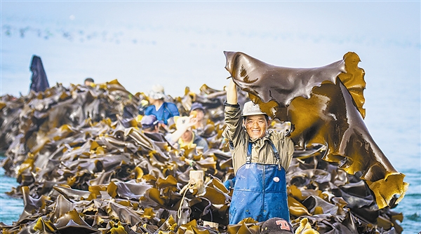
M 349 174 L 362 172 L 380 209 L 394 207 L 408 184 L 375 144 L 363 122 L 364 71 L 356 53 L 316 68 L 277 67 L 240 52 L 225 52 L 226 69 L 269 116 L 295 126 L 291 138 L 302 147 L 327 146 L 324 160 Z

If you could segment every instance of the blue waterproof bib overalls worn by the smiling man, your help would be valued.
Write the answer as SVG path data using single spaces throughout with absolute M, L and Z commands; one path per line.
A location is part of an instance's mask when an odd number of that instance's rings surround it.
M 279 162 L 279 153 L 269 141 Z M 285 170 L 278 164 L 251 163 L 251 142 L 246 164 L 236 172 L 229 207 L 229 224 L 251 217 L 256 221 L 279 217 L 289 221 Z

